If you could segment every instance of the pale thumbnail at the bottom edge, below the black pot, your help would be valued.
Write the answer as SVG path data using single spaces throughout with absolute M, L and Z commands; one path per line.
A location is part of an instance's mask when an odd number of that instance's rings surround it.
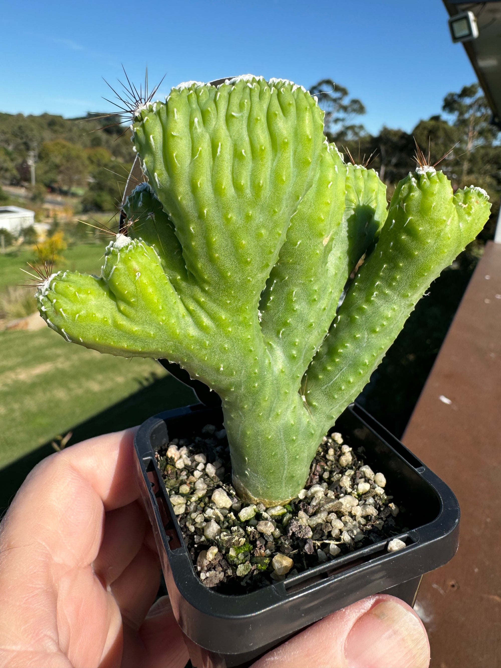
M 419 619 L 396 601 L 359 617 L 345 642 L 349 668 L 427 668 L 430 645 Z

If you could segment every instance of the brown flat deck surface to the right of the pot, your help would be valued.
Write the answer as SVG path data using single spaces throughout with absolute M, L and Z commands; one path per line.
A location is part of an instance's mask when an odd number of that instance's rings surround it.
M 430 665 L 501 666 L 501 244 L 478 263 L 403 442 L 462 511 L 458 554 L 418 595 Z

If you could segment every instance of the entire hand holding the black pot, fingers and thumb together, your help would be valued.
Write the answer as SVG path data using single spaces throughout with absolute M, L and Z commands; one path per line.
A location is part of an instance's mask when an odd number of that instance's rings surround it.
M 0 525 L 0 665 L 182 668 L 188 651 L 139 502 L 133 432 L 39 464 Z M 206 653 L 187 641 L 194 665 Z M 417 615 L 377 595 L 317 622 L 253 668 L 428 666 Z

